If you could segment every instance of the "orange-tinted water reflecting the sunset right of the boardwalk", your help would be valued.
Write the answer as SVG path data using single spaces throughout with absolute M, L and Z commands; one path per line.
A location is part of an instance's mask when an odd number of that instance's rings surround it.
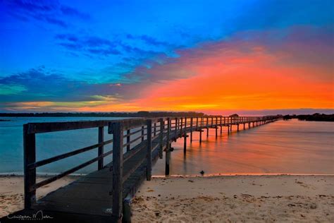
M 243 127 L 243 126 L 242 126 Z M 233 128 L 233 130 L 236 128 Z M 242 129 L 242 128 L 240 128 Z M 334 123 L 311 121 L 276 121 L 264 126 L 233 131 L 215 138 L 194 133 L 183 154 L 183 139 L 173 143 L 171 174 L 334 174 Z M 219 133 L 220 131 L 218 131 Z M 163 175 L 164 159 L 153 168 Z

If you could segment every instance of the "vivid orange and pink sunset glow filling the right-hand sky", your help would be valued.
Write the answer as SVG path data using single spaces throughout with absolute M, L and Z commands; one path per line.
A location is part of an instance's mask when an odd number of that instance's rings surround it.
M 126 104 L 81 111 L 333 109 L 333 66 L 298 61 L 303 54 L 316 61 L 317 55 L 310 52 L 318 52 L 319 47 L 281 47 L 273 51 L 257 44 L 223 42 L 180 52 L 180 59 L 149 71 L 157 79 L 180 78 L 143 83 L 138 98 Z

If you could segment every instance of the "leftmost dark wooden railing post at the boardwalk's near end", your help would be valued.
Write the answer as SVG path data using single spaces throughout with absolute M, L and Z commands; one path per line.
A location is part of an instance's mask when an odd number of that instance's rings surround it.
M 30 209 L 36 202 L 36 190 L 30 188 L 36 183 L 36 168 L 29 169 L 28 165 L 36 162 L 35 133 L 28 133 L 29 124 L 23 125 L 23 155 L 25 171 L 25 209 Z

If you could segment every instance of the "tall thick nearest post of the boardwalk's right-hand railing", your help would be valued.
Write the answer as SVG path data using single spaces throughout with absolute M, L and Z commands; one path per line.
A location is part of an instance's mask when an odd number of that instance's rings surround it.
M 112 123 L 113 132 L 113 216 L 118 221 L 123 209 L 123 123 Z

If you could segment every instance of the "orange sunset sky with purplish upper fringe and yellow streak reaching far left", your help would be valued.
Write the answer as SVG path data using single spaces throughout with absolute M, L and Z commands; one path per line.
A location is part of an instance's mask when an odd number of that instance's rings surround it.
M 36 111 L 209 114 L 233 109 L 333 109 L 334 52 L 321 37 L 304 41 L 308 30 L 292 29 L 287 40 L 271 44 L 256 38 L 241 41 L 236 36 L 179 50 L 177 58 L 137 67 L 126 76 L 129 84 L 108 85 L 113 95 L 93 95 L 89 96 L 92 100 L 78 102 L 13 102 L 9 106 Z M 134 78 L 140 81 L 133 83 Z

